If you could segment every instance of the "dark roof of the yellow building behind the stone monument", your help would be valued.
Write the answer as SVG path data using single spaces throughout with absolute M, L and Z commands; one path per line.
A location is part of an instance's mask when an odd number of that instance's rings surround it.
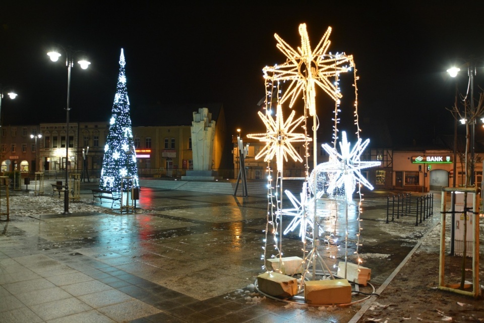
M 139 106 L 131 111 L 134 127 L 140 126 L 191 126 L 193 113 L 206 107 L 212 114 L 212 120 L 218 121 L 223 109 L 222 103 L 194 103 L 194 104 L 153 104 Z

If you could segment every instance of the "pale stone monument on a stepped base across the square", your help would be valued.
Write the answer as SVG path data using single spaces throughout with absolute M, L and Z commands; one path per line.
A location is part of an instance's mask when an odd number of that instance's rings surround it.
M 216 180 L 221 179 L 212 170 L 213 140 L 215 138 L 215 121 L 206 107 L 193 113 L 192 121 L 192 158 L 193 170 L 187 170 L 181 180 Z

